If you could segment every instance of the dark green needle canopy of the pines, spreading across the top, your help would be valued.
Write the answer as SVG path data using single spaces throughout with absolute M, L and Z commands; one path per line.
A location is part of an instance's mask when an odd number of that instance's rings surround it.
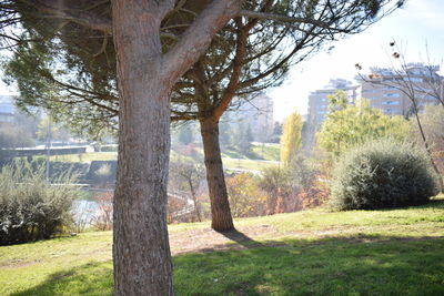
M 161 23 L 162 51 L 173 48 L 210 1 L 176 1 Z M 172 119 L 220 116 L 234 95 L 276 86 L 290 67 L 326 41 L 357 33 L 401 6 L 389 0 L 245 1 L 174 86 Z M 77 130 L 117 129 L 115 50 L 110 1 L 3 1 L 6 64 L 19 105 L 53 109 Z M 382 12 L 381 12 L 382 11 Z M 380 13 L 380 14 L 379 14 Z M 6 25 L 16 25 L 11 30 Z M 93 124 L 92 124 L 93 123 Z M 80 127 L 79 127 L 80 126 Z

